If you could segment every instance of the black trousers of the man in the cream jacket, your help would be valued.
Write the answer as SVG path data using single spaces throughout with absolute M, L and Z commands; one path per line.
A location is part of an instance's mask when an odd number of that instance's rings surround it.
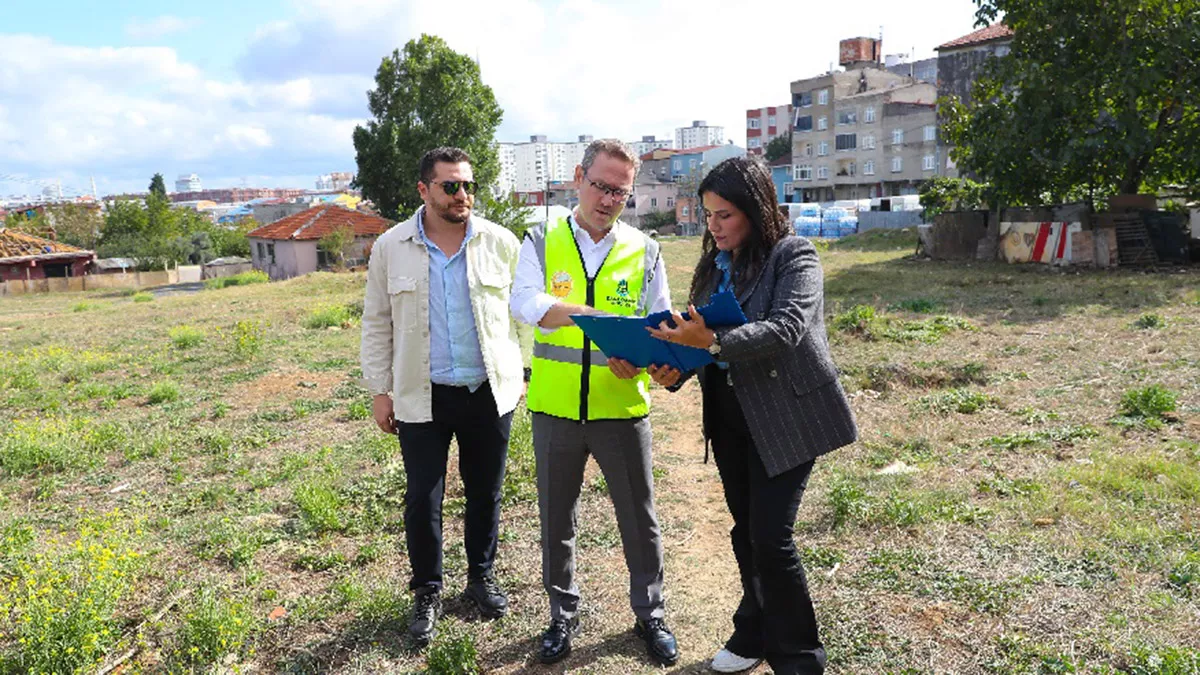
M 512 413 L 498 414 L 491 387 L 433 384 L 433 422 L 400 423 L 404 459 L 404 539 L 413 566 L 408 587 L 442 589 L 442 500 L 450 437 L 458 440 L 458 473 L 467 497 L 467 575 L 492 571 L 500 526 L 500 491 Z

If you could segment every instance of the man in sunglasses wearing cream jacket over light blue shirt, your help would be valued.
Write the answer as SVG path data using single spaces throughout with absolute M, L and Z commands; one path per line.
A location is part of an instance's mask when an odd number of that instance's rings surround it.
M 466 492 L 464 597 L 487 619 L 508 611 L 492 571 L 509 429 L 524 386 L 509 289 L 520 243 L 470 213 L 470 157 L 421 157 L 425 205 L 371 251 L 362 311 L 362 378 L 374 420 L 400 436 L 404 537 L 414 592 L 409 635 L 422 647 L 442 614 L 442 500 L 451 436 Z

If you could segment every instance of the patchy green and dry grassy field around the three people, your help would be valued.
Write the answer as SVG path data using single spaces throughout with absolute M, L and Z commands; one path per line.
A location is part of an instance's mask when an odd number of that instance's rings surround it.
M 798 545 L 830 673 L 1200 673 L 1200 274 L 822 245 L 862 441 L 818 461 Z M 666 240 L 682 301 L 696 240 Z M 499 575 L 425 655 L 394 437 L 358 384 L 361 275 L 0 300 L 0 674 L 650 673 L 605 484 L 581 506 L 584 634 L 536 664 L 528 417 Z M 694 384 L 654 392 L 668 621 L 700 673 L 739 592 Z M 446 573 L 464 584 L 461 483 Z

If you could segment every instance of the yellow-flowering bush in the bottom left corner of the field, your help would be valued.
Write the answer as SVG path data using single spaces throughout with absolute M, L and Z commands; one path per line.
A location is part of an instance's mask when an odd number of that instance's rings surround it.
M 16 566 L 0 596 L 2 673 L 91 673 L 120 638 L 116 609 L 140 563 L 137 522 L 112 512 L 89 516 L 73 542 L 50 542 Z M 6 640 L 7 641 L 7 640 Z

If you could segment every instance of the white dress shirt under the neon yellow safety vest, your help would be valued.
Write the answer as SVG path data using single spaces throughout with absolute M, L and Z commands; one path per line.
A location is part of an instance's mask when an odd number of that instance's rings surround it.
M 575 214 L 568 217 L 568 222 L 571 223 L 575 241 L 580 245 L 580 253 L 583 255 L 583 270 L 588 276 L 595 276 L 605 258 L 608 257 L 608 251 L 612 250 L 612 244 L 616 241 L 613 232 L 618 227 L 631 227 L 617 221 L 602 239 L 593 241 L 592 235 L 575 221 Z M 667 273 L 662 264 L 661 253 L 654 263 L 654 270 L 647 279 L 644 288 L 647 313 L 671 309 L 671 289 L 667 287 Z M 538 325 L 550 307 L 559 301 L 558 298 L 546 292 L 546 270 L 542 269 L 541 262 L 538 259 L 538 251 L 534 250 L 533 241 L 527 237 L 521 244 L 517 273 L 512 281 L 512 294 L 509 297 L 512 316 L 522 323 Z M 541 328 L 541 331 L 553 333 L 554 329 Z

